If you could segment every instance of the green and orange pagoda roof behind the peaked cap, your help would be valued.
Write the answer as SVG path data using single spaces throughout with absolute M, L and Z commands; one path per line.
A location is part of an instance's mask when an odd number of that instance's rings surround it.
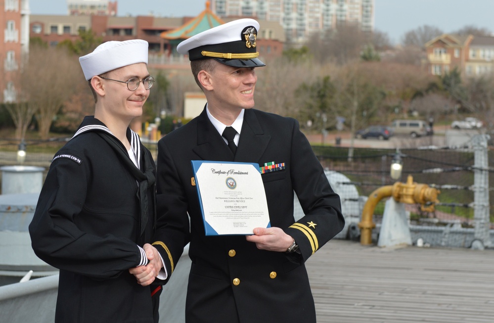
M 162 32 L 161 38 L 185 40 L 205 30 L 223 25 L 225 22 L 211 11 L 209 4 L 210 2 L 206 1 L 206 9 L 181 27 L 168 32 Z

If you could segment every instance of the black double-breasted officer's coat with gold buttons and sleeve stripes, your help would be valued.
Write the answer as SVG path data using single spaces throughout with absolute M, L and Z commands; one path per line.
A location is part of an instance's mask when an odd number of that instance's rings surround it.
M 157 160 L 158 233 L 171 256 L 165 259 L 169 273 L 190 241 L 186 322 L 315 323 L 304 263 L 343 229 L 344 219 L 298 122 L 246 109 L 233 155 L 204 109 L 158 142 Z M 300 254 L 260 250 L 243 235 L 206 236 L 191 160 L 284 163 L 262 179 L 271 226 L 291 235 Z M 294 192 L 305 213 L 297 222 Z

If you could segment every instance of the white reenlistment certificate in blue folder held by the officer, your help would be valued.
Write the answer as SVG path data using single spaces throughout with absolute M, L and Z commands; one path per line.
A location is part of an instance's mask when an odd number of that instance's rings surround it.
M 268 202 L 256 163 L 192 160 L 206 235 L 269 228 Z

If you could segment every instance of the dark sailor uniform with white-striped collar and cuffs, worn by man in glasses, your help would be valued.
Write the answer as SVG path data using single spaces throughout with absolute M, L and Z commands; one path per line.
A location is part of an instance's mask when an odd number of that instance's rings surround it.
M 60 269 L 55 322 L 153 323 L 150 287 L 128 269 L 147 261 L 137 245 L 153 234 L 154 162 L 137 140 L 138 170 L 99 120 L 82 127 L 55 154 L 29 226 L 36 254 Z

